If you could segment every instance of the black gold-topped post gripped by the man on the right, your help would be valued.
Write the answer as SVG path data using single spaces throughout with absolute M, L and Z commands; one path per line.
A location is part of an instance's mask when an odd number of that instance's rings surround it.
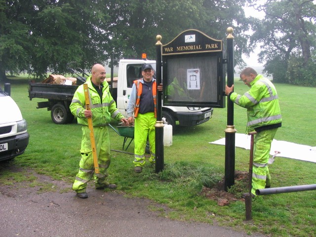
M 234 84 L 234 37 L 233 28 L 227 28 L 227 85 Z M 235 133 L 234 102 L 227 100 L 227 126 L 225 129 L 225 191 L 235 184 Z

